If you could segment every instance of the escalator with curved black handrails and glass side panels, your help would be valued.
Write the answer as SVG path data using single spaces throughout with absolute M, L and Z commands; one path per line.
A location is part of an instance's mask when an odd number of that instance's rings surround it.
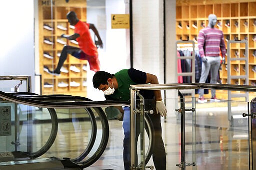
M 0 170 L 82 170 L 91 166 L 107 146 L 104 108 L 111 106 L 129 106 L 129 102 L 0 91 L 0 124 L 5 127 L 0 130 Z M 152 138 L 148 117 L 145 124 Z M 146 163 L 152 145 L 153 140 Z

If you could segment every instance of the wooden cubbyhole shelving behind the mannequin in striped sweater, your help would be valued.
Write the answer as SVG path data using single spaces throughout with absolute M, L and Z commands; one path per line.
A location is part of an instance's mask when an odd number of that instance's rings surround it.
M 256 73 L 254 72 L 256 71 L 255 9 L 255 0 L 215 0 L 214 2 L 210 0 L 204 4 L 200 0 L 176 0 L 176 40 L 195 40 L 203 25 L 205 27 L 208 25 L 208 15 L 214 13 L 217 16 L 217 23 L 220 23 L 220 26 L 218 27 L 216 24 L 216 27 L 223 31 L 224 39 L 247 39 L 249 61 L 248 85 L 256 85 Z M 225 26 L 226 23 L 229 23 L 229 27 Z M 227 45 L 226 40 L 225 45 Z M 244 44 L 232 44 L 230 49 L 231 58 L 244 57 Z M 243 61 L 234 61 L 231 63 L 231 67 L 234 68 L 232 69 L 232 74 L 244 75 Z M 227 83 L 226 65 L 221 65 L 220 78 L 222 84 Z M 231 84 L 243 85 L 244 82 L 243 79 L 237 79 L 232 81 Z

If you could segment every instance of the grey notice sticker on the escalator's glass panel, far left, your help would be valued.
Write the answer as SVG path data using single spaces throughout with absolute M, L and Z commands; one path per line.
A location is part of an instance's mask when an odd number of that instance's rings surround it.
M 11 135 L 10 106 L 0 107 L 0 136 Z

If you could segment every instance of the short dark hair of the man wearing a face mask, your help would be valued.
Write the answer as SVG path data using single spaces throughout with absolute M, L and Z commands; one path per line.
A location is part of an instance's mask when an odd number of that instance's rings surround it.
M 113 78 L 113 74 L 105 71 L 97 71 L 92 78 L 93 87 L 96 89 L 100 84 L 107 84 L 108 78 Z

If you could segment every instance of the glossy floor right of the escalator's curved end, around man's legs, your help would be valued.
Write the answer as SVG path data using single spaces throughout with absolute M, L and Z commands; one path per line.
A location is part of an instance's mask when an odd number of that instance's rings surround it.
M 231 103 L 236 115 L 247 112 L 247 103 Z M 238 126 L 230 126 L 225 101 L 195 104 L 194 117 L 187 112 L 185 122 L 186 170 L 248 170 L 248 124 L 240 117 Z M 189 107 L 188 107 L 189 108 Z M 196 122 L 195 124 L 193 123 Z M 235 121 L 235 120 L 232 120 Z M 166 150 L 166 170 L 180 170 L 180 121 L 178 116 L 169 115 L 161 120 L 162 137 Z M 192 126 L 195 125 L 195 126 Z M 109 121 L 110 136 L 102 157 L 86 170 L 123 170 L 122 127 L 117 120 Z M 196 137 L 196 138 L 194 138 Z M 196 152 L 193 152 L 196 150 Z M 152 160 L 147 165 L 153 165 Z

